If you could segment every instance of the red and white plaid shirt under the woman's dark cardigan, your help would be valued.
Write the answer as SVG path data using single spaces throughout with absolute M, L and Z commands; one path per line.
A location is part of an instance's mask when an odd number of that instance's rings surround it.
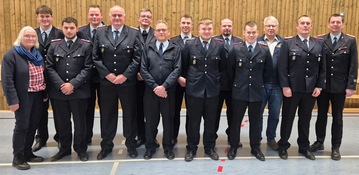
M 30 68 L 30 81 L 29 81 L 29 89 L 28 92 L 37 92 L 44 90 L 46 88 L 45 78 L 44 78 L 44 68 L 43 66 L 35 66 L 31 61 L 29 62 Z

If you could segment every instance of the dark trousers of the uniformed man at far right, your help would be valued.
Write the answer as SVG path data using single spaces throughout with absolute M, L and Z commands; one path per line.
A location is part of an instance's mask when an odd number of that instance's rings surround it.
M 328 93 L 321 92 L 317 97 L 318 104 L 318 117 L 315 123 L 315 132 L 317 134 L 317 141 L 321 144 L 324 143 L 329 101 L 332 104 L 332 147 L 339 148 L 341 138 L 343 137 L 343 109 L 345 104 L 346 93 Z

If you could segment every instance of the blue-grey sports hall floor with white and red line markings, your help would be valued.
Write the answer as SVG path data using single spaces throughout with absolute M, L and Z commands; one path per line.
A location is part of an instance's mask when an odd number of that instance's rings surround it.
M 185 111 L 182 110 L 182 114 Z M 49 117 L 52 117 L 50 112 Z M 121 111 L 119 116 L 121 116 Z M 139 156 L 135 159 L 128 157 L 126 146 L 124 145 L 124 137 L 122 135 L 122 118 L 119 118 L 117 135 L 114 143 L 115 147 L 113 152 L 103 160 L 97 160 L 96 156 L 101 150 L 100 142 L 100 126 L 99 126 L 99 113 L 95 114 L 94 124 L 94 137 L 92 144 L 88 146 L 89 161 L 81 162 L 77 154 L 73 151 L 71 156 L 66 156 L 59 161 L 50 161 L 50 157 L 55 155 L 59 150 L 57 149 L 57 143 L 51 138 L 55 134 L 53 128 L 53 119 L 49 119 L 49 132 L 50 139 L 47 145 L 41 150 L 35 152 L 35 155 L 44 157 L 45 161 L 40 163 L 30 163 L 31 169 L 20 171 L 11 166 L 13 160 L 12 155 L 12 134 L 14 129 L 14 113 L 0 112 L 0 174 L 5 175 L 21 175 L 21 174 L 94 174 L 94 175 L 108 175 L 108 174 L 121 174 L 121 175 L 157 175 L 157 174 L 318 174 L 318 175 L 339 175 L 339 174 L 359 174 L 359 114 L 344 114 L 344 134 L 342 139 L 342 145 L 340 147 L 340 153 L 342 159 L 335 161 L 330 158 L 331 155 L 331 117 L 328 117 L 327 138 L 325 140 L 325 150 L 317 151 L 314 153 L 316 160 L 312 161 L 306 159 L 304 156 L 298 153 L 297 137 L 297 121 L 294 121 L 292 137 L 289 142 L 292 147 L 288 149 L 288 160 L 283 160 L 278 157 L 278 151 L 271 150 L 266 145 L 266 137 L 264 133 L 264 140 L 262 140 L 261 150 L 266 156 L 266 161 L 259 161 L 250 153 L 249 146 L 249 123 L 248 116 L 245 116 L 242 124 L 241 142 L 243 147 L 238 149 L 237 157 L 234 160 L 227 159 L 226 149 L 227 135 L 225 129 L 227 128 L 227 119 L 225 117 L 225 111 L 222 111 L 223 117 L 220 120 L 220 128 L 218 131 L 219 138 L 216 141 L 216 152 L 219 154 L 220 159 L 215 161 L 209 159 L 204 153 L 202 140 L 197 151 L 195 159 L 191 162 L 186 162 L 183 157 L 186 154 L 186 133 L 184 128 L 185 117 L 181 117 L 180 136 L 178 138 L 178 144 L 174 147 L 174 153 L 176 158 L 174 160 L 167 160 L 163 153 L 162 145 L 158 148 L 151 160 L 144 160 L 143 154 L 145 152 L 145 146 L 137 148 Z M 247 114 L 246 114 L 247 115 Z M 316 111 L 313 111 L 313 117 L 311 120 L 311 129 L 309 139 L 312 142 L 315 141 L 315 121 Z M 266 128 L 267 111 L 264 116 L 264 128 Z M 280 126 L 280 125 L 279 125 Z M 280 127 L 277 129 L 278 141 L 280 136 Z M 159 134 L 157 136 L 158 141 L 162 140 L 162 124 L 159 126 Z M 203 122 L 201 126 L 201 133 L 203 133 Z M 202 134 L 201 134 L 202 135 Z M 220 171 L 222 169 L 222 171 Z

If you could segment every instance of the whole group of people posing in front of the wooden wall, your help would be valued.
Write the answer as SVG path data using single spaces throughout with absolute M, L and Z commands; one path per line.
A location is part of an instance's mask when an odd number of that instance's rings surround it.
M 260 145 L 268 104 L 267 145 L 278 150 L 280 158 L 288 158 L 288 140 L 298 108 L 298 152 L 314 160 L 312 152 L 324 150 L 329 101 L 333 116 L 331 157 L 340 160 L 342 110 L 345 97 L 353 95 L 356 88 L 358 52 L 355 38 L 341 32 L 344 18 L 339 14 L 329 18 L 330 33 L 318 38 L 310 36 L 312 20 L 307 15 L 297 20 L 298 35 L 287 38 L 277 34 L 279 23 L 273 16 L 264 19 L 265 34 L 261 37 L 258 24 L 249 21 L 243 27 L 245 41 L 232 35 L 233 22 L 228 18 L 220 22 L 219 36 L 213 36 L 211 19 L 201 19 L 199 37 L 195 37 L 191 34 L 193 19 L 184 14 L 179 22 L 181 34 L 169 38 L 165 21 L 158 20 L 150 27 L 150 9 L 140 11 L 137 28 L 124 25 L 125 10 L 117 5 L 109 10 L 110 25 L 102 22 L 98 5 L 89 7 L 87 17 L 88 25 L 78 27 L 75 18 L 66 17 L 62 29 L 55 28 L 52 10 L 41 5 L 36 10 L 40 27 L 24 27 L 14 47 L 4 55 L 1 81 L 10 110 L 15 112 L 13 166 L 17 169 L 26 170 L 30 168 L 27 162 L 44 160 L 33 152 L 48 139 L 49 101 L 59 147 L 50 160 L 70 155 L 73 140 L 79 159 L 87 161 L 96 99 L 102 138 L 98 160 L 106 158 L 114 147 L 118 100 L 129 157 L 136 158 L 136 148 L 144 144 L 144 159 L 152 158 L 160 146 L 156 137 L 161 115 L 164 154 L 174 159 L 183 97 L 187 109 L 186 161 L 196 155 L 202 117 L 205 153 L 219 159 L 215 144 L 224 102 L 228 159 L 235 159 L 237 149 L 243 146 L 241 123 L 248 108 L 251 153 L 265 160 Z M 317 140 L 309 146 L 309 122 L 316 100 Z

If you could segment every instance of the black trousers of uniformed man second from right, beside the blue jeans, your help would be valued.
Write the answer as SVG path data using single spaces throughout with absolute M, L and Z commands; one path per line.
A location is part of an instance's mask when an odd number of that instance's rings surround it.
M 299 150 L 309 150 L 309 125 L 315 101 L 316 98 L 312 96 L 312 93 L 292 92 L 291 97 L 283 96 L 279 148 L 288 150 L 290 147 L 288 140 L 298 107 L 298 147 Z

